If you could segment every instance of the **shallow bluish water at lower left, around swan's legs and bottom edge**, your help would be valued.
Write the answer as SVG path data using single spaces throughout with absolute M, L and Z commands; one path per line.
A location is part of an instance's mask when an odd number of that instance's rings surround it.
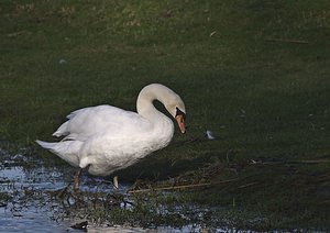
M 4 157 L 3 157 L 4 156 Z M 62 190 L 73 177 L 56 168 L 46 168 L 41 162 L 29 160 L 23 155 L 3 155 L 0 164 L 0 232 L 81 232 L 70 226 L 82 218 L 69 218 L 73 199 L 59 201 L 52 193 Z M 26 168 L 29 164 L 37 164 Z M 29 166 L 28 166 L 29 167 Z M 124 192 L 129 186 L 121 184 Z M 111 182 L 82 176 L 80 190 L 89 193 L 111 193 Z M 69 208 L 68 208 L 69 207 Z M 180 229 L 156 229 L 125 225 L 88 224 L 88 232 L 200 232 L 200 225 L 184 225 Z M 221 232 L 220 230 L 218 232 Z

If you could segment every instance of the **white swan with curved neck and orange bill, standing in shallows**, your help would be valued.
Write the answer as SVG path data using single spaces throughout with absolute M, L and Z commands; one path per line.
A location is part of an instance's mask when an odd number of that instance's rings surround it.
M 152 84 L 139 93 L 138 113 L 112 106 L 79 109 L 67 115 L 68 121 L 53 134 L 65 136 L 61 142 L 37 140 L 36 143 L 80 168 L 75 178 L 75 189 L 78 189 L 82 168 L 91 175 L 108 176 L 168 145 L 174 125 L 154 107 L 154 100 L 165 106 L 176 119 L 180 132 L 185 133 L 184 101 L 169 88 Z

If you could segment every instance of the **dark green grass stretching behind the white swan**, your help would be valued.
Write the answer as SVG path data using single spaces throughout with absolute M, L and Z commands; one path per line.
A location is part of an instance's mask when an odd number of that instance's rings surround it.
M 329 181 L 314 184 L 320 177 L 306 174 L 330 175 L 328 9 L 326 0 L 1 1 L 1 140 L 66 166 L 34 140 L 51 140 L 78 108 L 134 110 L 140 89 L 162 82 L 185 100 L 188 133 L 121 171 L 124 180 L 220 164 L 234 167 L 240 182 L 223 189 L 223 201 L 215 195 L 219 187 L 198 201 L 230 204 L 235 197 L 238 204 L 283 214 L 297 198 L 307 203 L 299 210 L 322 215 L 318 198 L 329 206 Z M 194 141 L 207 130 L 216 141 Z M 286 163 L 248 165 L 272 158 Z M 294 165 L 297 174 L 286 176 L 297 160 L 319 163 Z M 264 185 L 241 193 L 238 187 L 254 181 Z

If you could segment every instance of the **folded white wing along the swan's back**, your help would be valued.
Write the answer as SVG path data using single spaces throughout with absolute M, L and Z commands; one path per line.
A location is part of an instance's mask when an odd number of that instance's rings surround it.
M 86 141 L 88 137 L 107 131 L 111 134 L 129 134 L 150 127 L 148 121 L 135 112 L 112 106 L 98 106 L 72 112 L 68 121 L 53 134 L 66 136 L 64 140 Z

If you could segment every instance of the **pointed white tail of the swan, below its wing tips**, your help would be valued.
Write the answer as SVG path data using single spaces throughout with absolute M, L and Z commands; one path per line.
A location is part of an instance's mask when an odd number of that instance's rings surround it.
M 65 141 L 58 143 L 48 143 L 40 140 L 36 140 L 35 142 L 43 148 L 48 149 L 62 159 L 69 163 L 72 166 L 79 167 L 78 152 L 80 149 L 81 142 Z

